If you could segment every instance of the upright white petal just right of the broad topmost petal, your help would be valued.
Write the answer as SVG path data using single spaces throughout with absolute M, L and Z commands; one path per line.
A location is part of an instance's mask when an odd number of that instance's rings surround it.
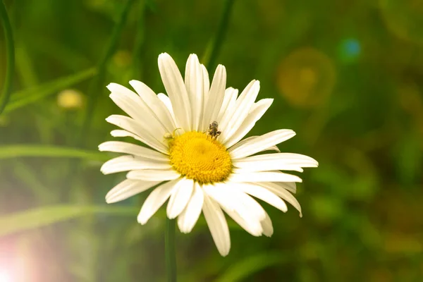
M 203 80 L 202 67 L 197 55 L 190 54 L 185 67 L 185 87 L 190 97 L 193 130 L 200 130 L 200 123 L 202 121 Z

